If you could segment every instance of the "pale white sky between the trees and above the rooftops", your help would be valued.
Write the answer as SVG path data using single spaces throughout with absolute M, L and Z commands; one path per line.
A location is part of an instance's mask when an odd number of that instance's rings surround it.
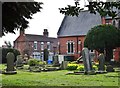
M 74 0 L 35 0 L 43 2 L 43 9 L 33 15 L 33 19 L 29 20 L 29 27 L 25 29 L 26 34 L 43 35 L 43 30 L 48 29 L 49 37 L 57 37 L 58 29 L 64 18 L 64 15 L 59 12 L 58 8 L 65 7 L 67 5 L 74 5 Z M 84 0 L 81 1 L 82 7 L 84 6 Z M 19 36 L 19 31 L 15 31 L 16 34 L 8 33 L 0 38 L 0 46 L 5 45 L 4 41 L 10 41 L 13 45 L 13 41 Z

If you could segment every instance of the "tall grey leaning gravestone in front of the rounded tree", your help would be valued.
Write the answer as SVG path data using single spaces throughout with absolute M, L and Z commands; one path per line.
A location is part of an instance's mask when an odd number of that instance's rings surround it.
M 88 48 L 83 48 L 82 58 L 83 58 L 85 74 L 94 74 L 94 71 L 92 68 L 92 61 L 90 59 Z

